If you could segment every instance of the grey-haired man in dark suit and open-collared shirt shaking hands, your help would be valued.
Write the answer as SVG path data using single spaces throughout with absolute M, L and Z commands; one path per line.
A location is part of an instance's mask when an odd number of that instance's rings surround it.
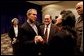
M 37 55 L 37 45 L 35 36 L 39 35 L 39 26 L 36 24 L 37 10 L 29 9 L 27 11 L 27 21 L 22 25 L 22 55 Z

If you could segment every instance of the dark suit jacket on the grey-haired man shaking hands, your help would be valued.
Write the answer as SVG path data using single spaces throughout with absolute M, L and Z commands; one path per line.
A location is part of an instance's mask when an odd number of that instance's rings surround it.
M 36 27 L 38 29 L 38 34 L 40 35 L 39 26 L 37 24 L 36 24 Z M 38 49 L 37 49 L 37 46 L 34 42 L 34 37 L 36 36 L 35 31 L 29 25 L 28 22 L 25 22 L 21 28 L 22 28 L 21 43 L 22 43 L 23 55 L 25 55 L 25 54 L 26 55 L 36 55 Z

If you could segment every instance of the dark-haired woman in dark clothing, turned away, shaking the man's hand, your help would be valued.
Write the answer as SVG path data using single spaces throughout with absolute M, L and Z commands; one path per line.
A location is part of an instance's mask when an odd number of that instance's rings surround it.
M 63 13 L 62 13 L 63 12 Z M 56 19 L 59 30 L 52 39 L 50 53 L 53 55 L 73 55 L 75 47 L 75 16 L 70 10 L 61 11 Z

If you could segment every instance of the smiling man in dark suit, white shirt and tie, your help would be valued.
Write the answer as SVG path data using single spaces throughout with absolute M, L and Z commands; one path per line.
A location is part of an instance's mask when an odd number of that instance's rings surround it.
M 41 32 L 45 35 L 47 29 L 47 42 L 49 42 L 56 32 L 56 26 L 52 24 L 52 18 L 50 15 L 45 15 L 44 25 L 40 26 Z M 43 37 L 45 39 L 45 36 Z

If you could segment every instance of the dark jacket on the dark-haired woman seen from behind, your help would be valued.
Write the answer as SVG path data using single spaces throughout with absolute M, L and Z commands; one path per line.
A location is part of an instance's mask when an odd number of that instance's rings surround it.
M 73 34 L 65 29 L 57 32 L 50 42 L 50 55 L 74 55 Z

